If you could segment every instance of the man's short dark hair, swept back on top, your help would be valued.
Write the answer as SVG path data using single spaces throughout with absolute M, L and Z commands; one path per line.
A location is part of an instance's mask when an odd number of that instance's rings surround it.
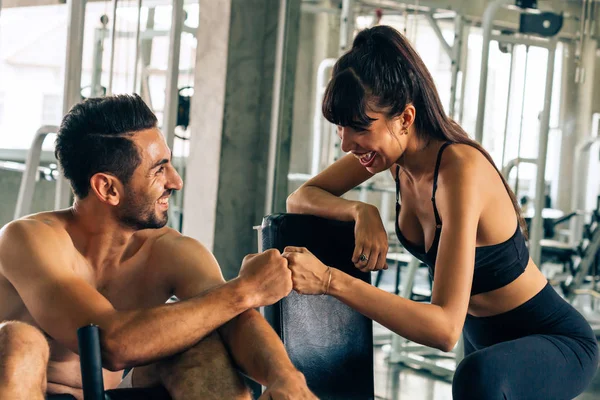
M 62 120 L 54 154 L 75 196 L 85 198 L 90 178 L 99 172 L 127 184 L 141 163 L 135 132 L 154 128 L 157 119 L 138 95 L 87 99 Z

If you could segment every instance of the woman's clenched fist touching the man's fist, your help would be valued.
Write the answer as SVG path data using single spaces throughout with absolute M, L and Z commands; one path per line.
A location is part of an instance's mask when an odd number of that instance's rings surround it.
M 331 269 L 305 247 L 288 246 L 282 256 L 292 271 L 292 285 L 299 294 L 326 294 L 331 283 Z

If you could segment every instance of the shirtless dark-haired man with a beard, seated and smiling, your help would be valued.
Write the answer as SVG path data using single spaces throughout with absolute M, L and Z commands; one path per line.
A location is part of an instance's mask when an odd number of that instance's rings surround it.
M 83 398 L 77 329 L 87 324 L 100 327 L 107 389 L 136 367 L 133 386 L 162 385 L 176 400 L 251 399 L 241 370 L 267 387 L 261 399 L 315 399 L 254 310 L 291 291 L 286 259 L 247 256 L 225 282 L 206 248 L 165 227 L 182 181 L 156 126 L 125 95 L 63 119 L 56 156 L 73 207 L 0 231 L 0 399 Z

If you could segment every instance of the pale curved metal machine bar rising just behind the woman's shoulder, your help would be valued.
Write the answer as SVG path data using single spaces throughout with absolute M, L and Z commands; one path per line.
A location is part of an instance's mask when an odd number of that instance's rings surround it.
M 513 0 L 495 0 L 491 2 L 483 13 L 483 45 L 481 48 L 481 69 L 479 73 L 479 101 L 477 102 L 477 122 L 475 124 L 475 140 L 483 143 L 483 121 L 485 118 L 485 96 L 487 95 L 488 62 L 490 57 L 490 37 L 494 26 L 494 16 L 504 5 Z

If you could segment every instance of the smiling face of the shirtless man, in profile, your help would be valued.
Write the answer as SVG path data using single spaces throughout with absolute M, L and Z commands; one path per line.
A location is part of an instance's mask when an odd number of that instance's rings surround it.
M 118 218 L 135 230 L 162 228 L 168 220 L 169 197 L 174 190 L 181 190 L 183 182 L 157 128 L 136 132 L 132 140 L 142 162 L 125 185 Z

